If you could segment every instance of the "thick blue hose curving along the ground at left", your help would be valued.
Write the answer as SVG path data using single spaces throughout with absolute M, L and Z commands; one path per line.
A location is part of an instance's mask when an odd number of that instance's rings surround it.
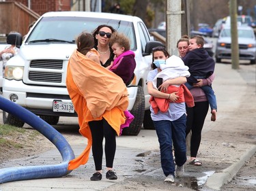
M 53 126 L 35 116 L 31 111 L 1 96 L 0 109 L 20 118 L 20 120 L 23 120 L 23 122 L 39 131 L 57 147 L 62 157 L 61 164 L 0 169 L 0 184 L 25 179 L 62 177 L 71 173 L 71 171 L 68 171 L 68 162 L 74 159 L 74 152 L 68 141 Z

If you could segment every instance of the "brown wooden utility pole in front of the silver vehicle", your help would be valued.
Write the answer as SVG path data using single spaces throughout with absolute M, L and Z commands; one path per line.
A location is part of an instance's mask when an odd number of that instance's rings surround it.
M 239 48 L 238 48 L 238 20 L 237 0 L 229 0 L 229 13 L 231 20 L 231 65 L 232 69 L 239 69 Z

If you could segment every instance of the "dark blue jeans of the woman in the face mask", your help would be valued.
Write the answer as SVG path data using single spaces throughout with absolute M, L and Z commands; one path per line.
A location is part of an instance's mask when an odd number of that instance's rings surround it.
M 177 166 L 182 166 L 186 162 L 186 114 L 173 122 L 169 120 L 153 122 L 160 144 L 162 171 L 165 176 L 170 174 L 174 176 L 173 146 Z

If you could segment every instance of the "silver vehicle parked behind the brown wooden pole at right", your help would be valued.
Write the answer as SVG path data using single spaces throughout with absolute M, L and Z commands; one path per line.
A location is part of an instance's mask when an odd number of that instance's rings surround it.
M 256 62 L 256 39 L 253 28 L 249 26 L 238 27 L 239 58 L 250 60 L 251 64 Z M 215 51 L 216 63 L 221 63 L 221 59 L 231 59 L 231 29 L 225 27 L 216 43 Z

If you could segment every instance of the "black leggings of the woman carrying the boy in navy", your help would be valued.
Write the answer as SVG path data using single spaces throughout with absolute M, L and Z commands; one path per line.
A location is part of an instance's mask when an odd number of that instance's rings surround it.
M 195 107 L 186 107 L 186 135 L 191 131 L 190 156 L 197 157 L 199 145 L 201 143 L 201 131 L 203 123 L 208 113 L 208 101 L 195 102 Z

